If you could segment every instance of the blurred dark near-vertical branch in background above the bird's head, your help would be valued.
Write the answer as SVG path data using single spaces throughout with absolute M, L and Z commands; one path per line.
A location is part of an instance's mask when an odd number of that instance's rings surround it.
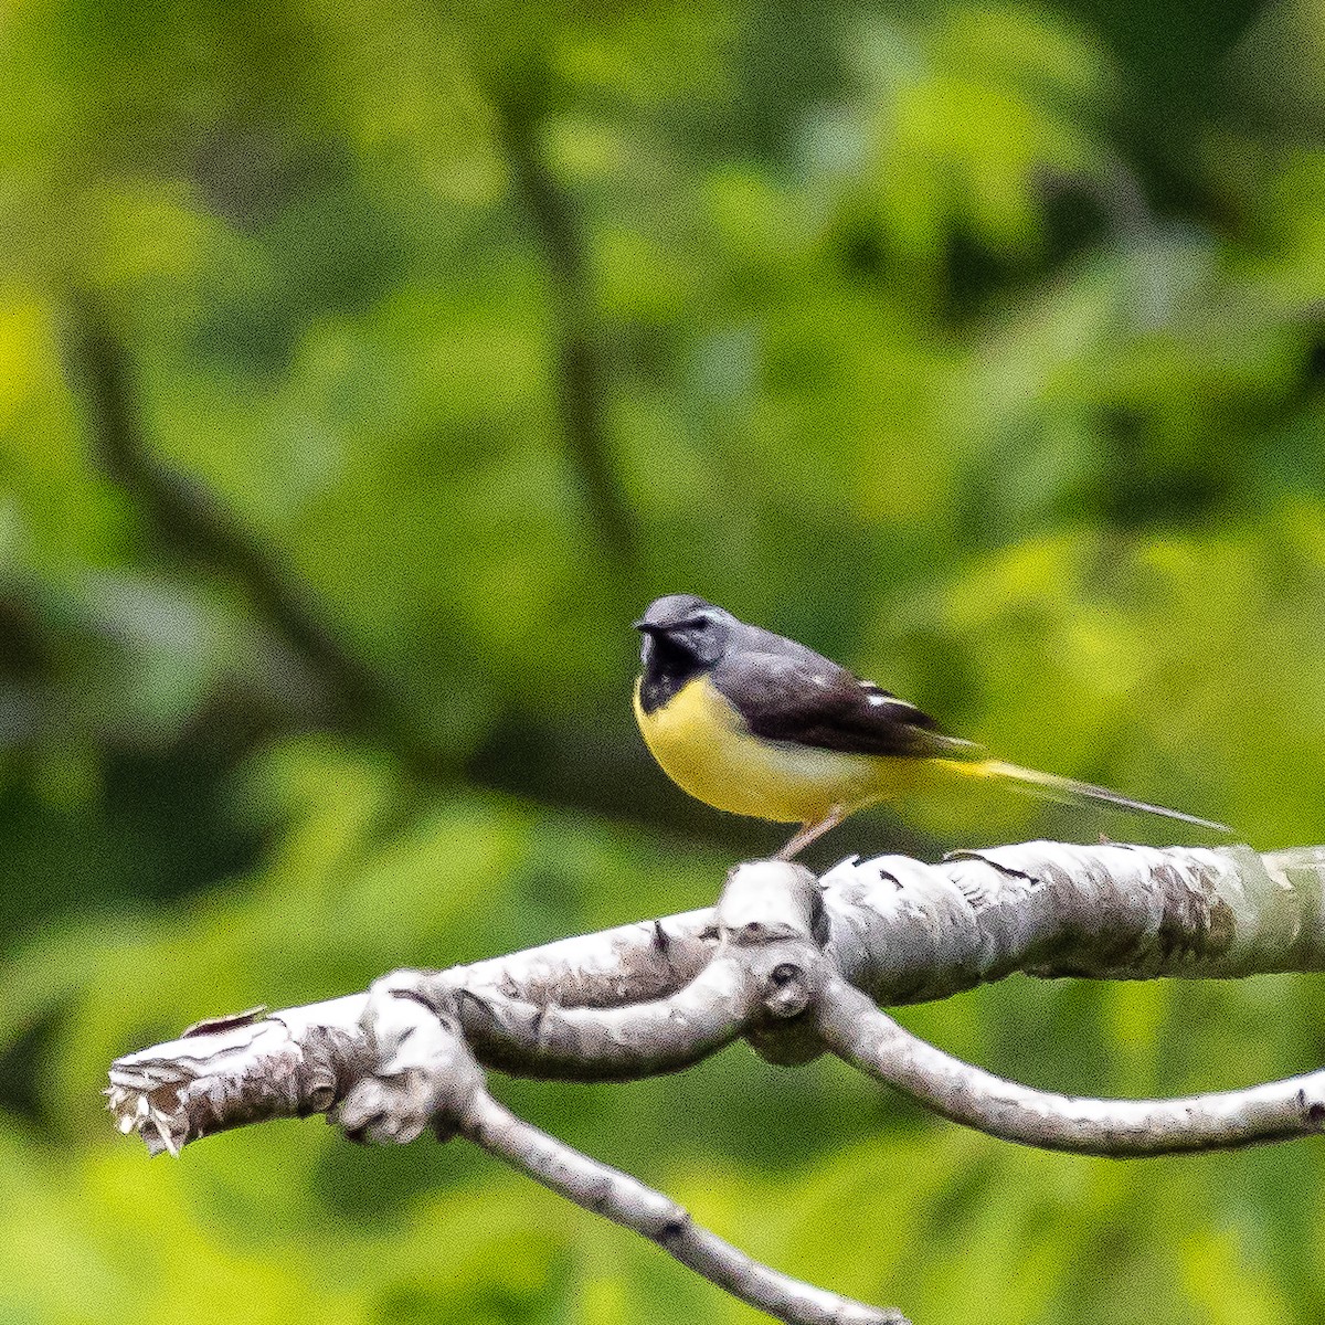
M 556 405 L 566 449 L 599 537 L 617 562 L 636 559 L 635 526 L 607 436 L 607 372 L 594 334 L 588 260 L 579 217 L 543 160 L 539 143 L 543 76 L 496 98 L 517 199 L 529 217 L 551 278 L 556 342 Z

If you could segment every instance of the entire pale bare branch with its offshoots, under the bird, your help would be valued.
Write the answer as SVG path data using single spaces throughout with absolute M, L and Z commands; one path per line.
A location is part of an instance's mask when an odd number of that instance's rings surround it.
M 1325 849 L 1028 843 L 939 865 L 786 861 L 733 871 L 712 912 L 627 925 L 367 994 L 203 1023 L 119 1059 L 122 1132 L 178 1154 L 212 1132 L 331 1113 L 355 1138 L 461 1134 L 653 1238 L 779 1320 L 896 1321 L 755 1265 L 635 1179 L 486 1094 L 482 1067 L 617 1080 L 738 1036 L 776 1063 L 829 1048 L 945 1117 L 1026 1145 L 1113 1157 L 1244 1146 L 1325 1128 L 1325 1072 L 1182 1100 L 1035 1090 L 904 1031 L 876 1002 L 939 998 L 1014 970 L 1149 978 L 1325 966 Z

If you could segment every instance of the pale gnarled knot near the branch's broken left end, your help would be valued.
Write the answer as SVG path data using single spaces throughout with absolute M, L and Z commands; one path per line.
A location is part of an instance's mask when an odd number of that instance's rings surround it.
M 484 1090 L 453 990 L 424 971 L 374 982 L 360 1019 L 375 1063 L 335 1110 L 351 1141 L 405 1145 L 432 1128 L 445 1141 Z

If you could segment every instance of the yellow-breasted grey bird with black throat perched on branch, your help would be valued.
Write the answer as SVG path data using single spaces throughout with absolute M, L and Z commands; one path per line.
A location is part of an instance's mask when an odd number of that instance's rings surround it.
M 693 594 L 655 599 L 633 627 L 641 635 L 635 717 L 653 758 L 705 804 L 799 824 L 776 859 L 794 859 L 864 806 L 943 776 L 991 779 L 1051 800 L 1098 802 L 1231 832 L 1210 819 L 991 758 L 873 681 Z

